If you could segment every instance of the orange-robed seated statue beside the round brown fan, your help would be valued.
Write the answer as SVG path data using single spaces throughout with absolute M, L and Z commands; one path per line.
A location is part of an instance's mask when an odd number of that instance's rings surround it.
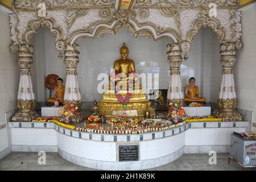
M 58 101 L 60 103 L 64 102 L 64 91 L 65 86 L 63 85 L 63 79 L 58 78 L 57 79 L 57 85 L 54 88 L 53 96 L 51 98 L 48 98 L 47 102 L 55 102 Z

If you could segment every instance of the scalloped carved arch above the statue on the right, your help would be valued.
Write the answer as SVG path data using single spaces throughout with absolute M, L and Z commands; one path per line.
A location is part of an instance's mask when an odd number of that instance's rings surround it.
M 192 42 L 194 36 L 199 32 L 201 27 L 210 27 L 217 34 L 218 40 L 222 43 L 226 38 L 226 31 L 223 27 L 221 27 L 218 19 L 214 18 L 214 16 L 210 17 L 207 9 L 201 10 L 198 18 L 193 21 L 192 29 L 188 31 L 186 40 L 188 42 Z

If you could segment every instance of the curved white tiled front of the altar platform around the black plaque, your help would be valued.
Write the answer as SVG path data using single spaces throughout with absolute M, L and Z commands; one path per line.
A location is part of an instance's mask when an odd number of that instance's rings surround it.
M 55 123 L 9 122 L 15 152 L 58 152 L 80 166 L 104 170 L 140 170 L 170 163 L 183 154 L 228 152 L 230 134 L 249 122 L 191 122 L 143 134 L 94 134 Z M 138 145 L 136 161 L 120 162 L 118 146 Z

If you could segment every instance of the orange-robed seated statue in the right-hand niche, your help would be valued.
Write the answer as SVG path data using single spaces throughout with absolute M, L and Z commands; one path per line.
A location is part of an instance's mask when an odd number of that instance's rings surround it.
M 195 85 L 196 79 L 191 77 L 189 85 L 185 87 L 185 102 L 205 102 L 205 98 L 199 97 L 199 88 Z

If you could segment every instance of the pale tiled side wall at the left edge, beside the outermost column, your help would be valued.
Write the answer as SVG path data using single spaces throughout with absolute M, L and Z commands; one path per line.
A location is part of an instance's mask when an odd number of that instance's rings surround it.
M 0 154 L 8 147 L 6 112 L 16 108 L 16 97 L 19 85 L 19 67 L 16 53 L 11 53 L 9 46 L 9 15 L 0 10 Z M 1 157 L 1 155 L 0 155 Z

